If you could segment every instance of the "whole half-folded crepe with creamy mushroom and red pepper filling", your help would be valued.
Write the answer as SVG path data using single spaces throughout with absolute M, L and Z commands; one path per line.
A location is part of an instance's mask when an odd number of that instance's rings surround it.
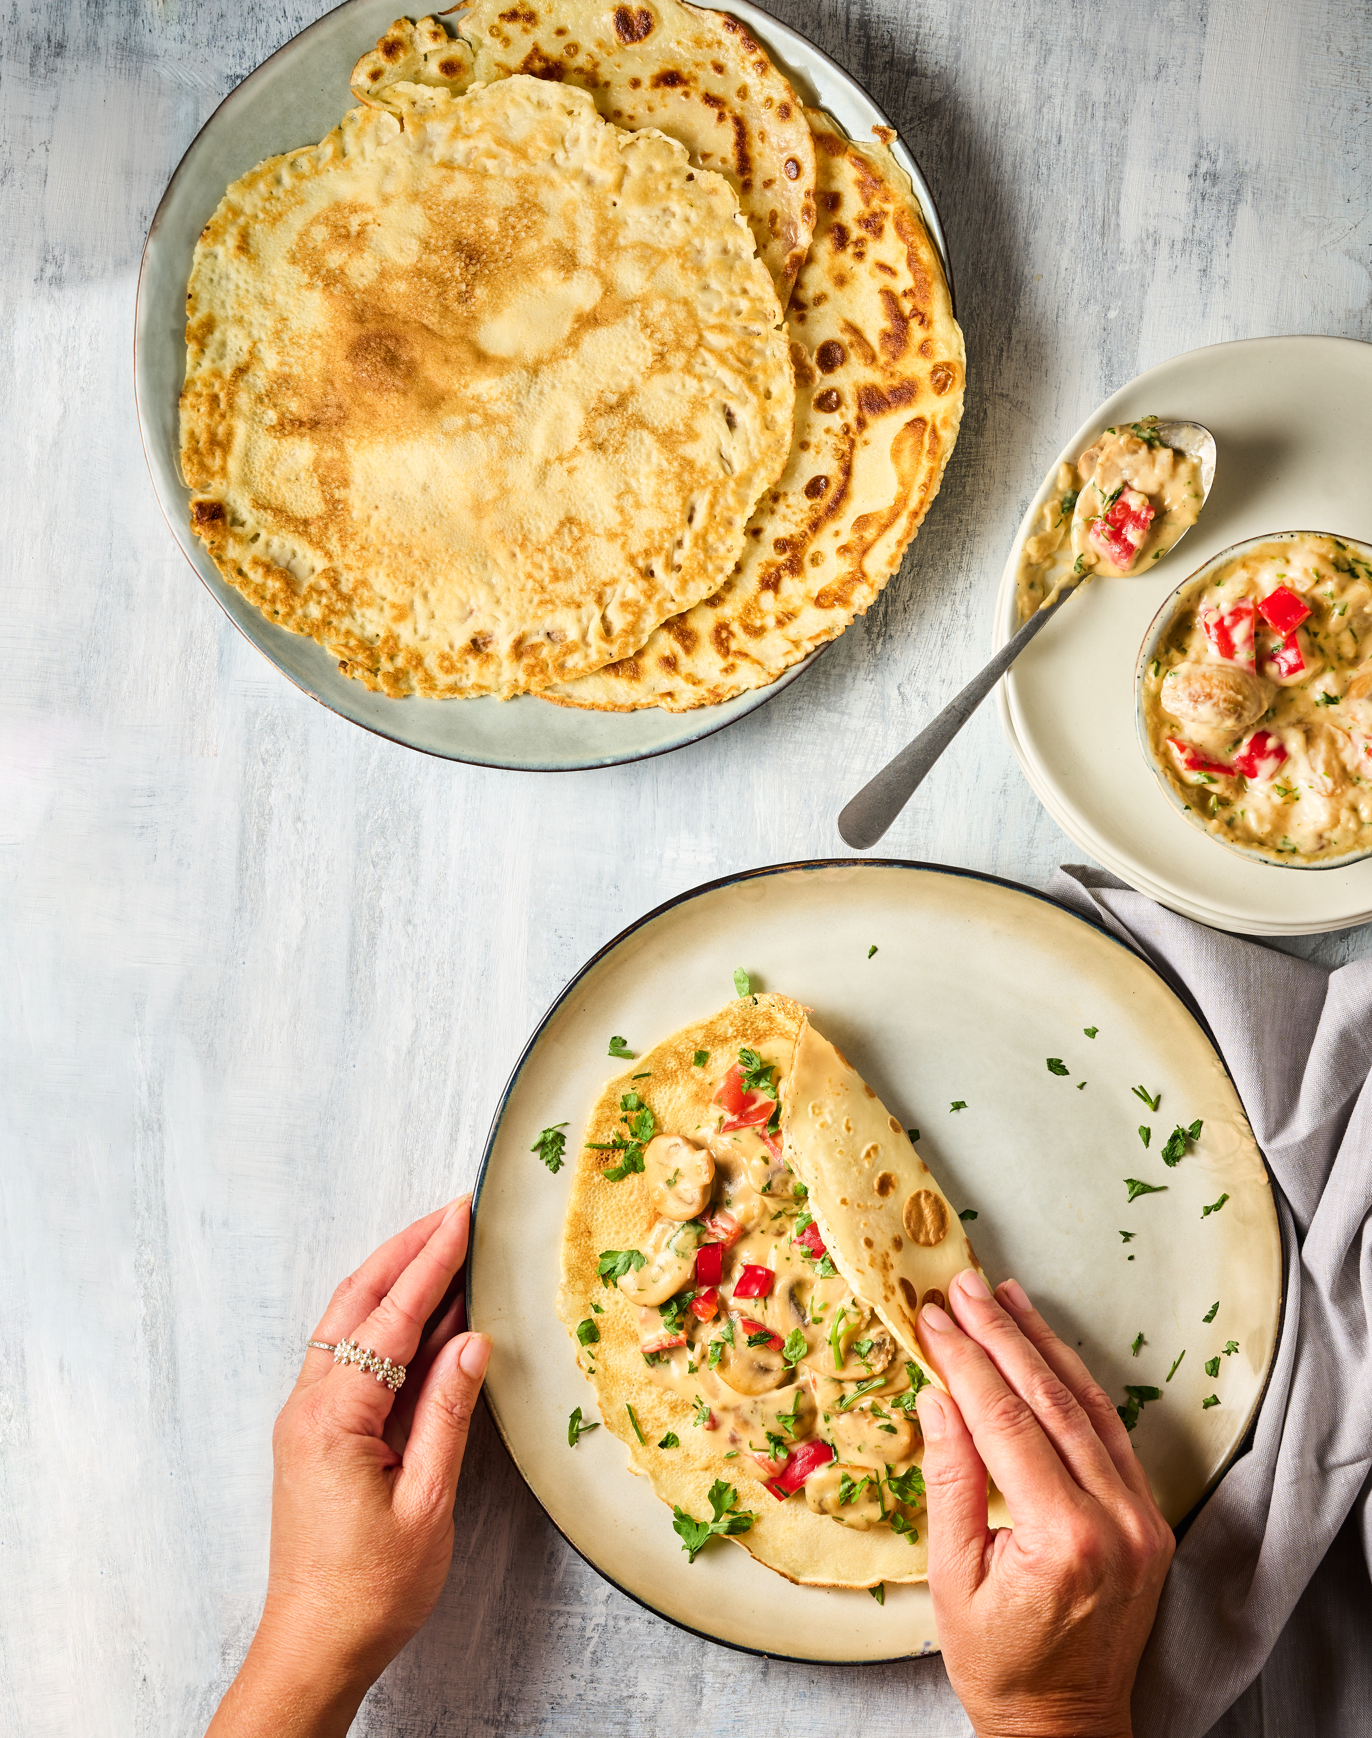
M 876 1170 L 873 1142 L 892 1149 Z M 889 1231 L 868 1187 L 885 1177 L 896 1224 L 913 1196 L 925 1239 L 942 1215 L 941 1250 L 864 1258 L 862 1227 Z M 640 1057 L 595 1107 L 560 1312 L 678 1531 L 727 1481 L 730 1536 L 788 1578 L 909 1582 L 927 1569 L 915 1396 L 932 1376 L 901 1281 L 946 1288 L 969 1262 L 899 1123 L 802 1008 L 749 996 Z

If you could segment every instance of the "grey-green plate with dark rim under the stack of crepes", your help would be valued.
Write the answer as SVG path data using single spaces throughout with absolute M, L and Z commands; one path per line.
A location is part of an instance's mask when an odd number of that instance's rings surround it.
M 522 695 L 515 700 L 393 700 L 370 693 L 339 674 L 337 659 L 301 634 L 270 622 L 226 584 L 198 537 L 190 530 L 190 490 L 181 480 L 177 400 L 186 375 L 186 280 L 195 242 L 230 181 L 264 156 L 322 139 L 351 106 L 348 75 L 395 17 L 396 0 L 348 0 L 242 82 L 205 122 L 162 196 L 143 250 L 134 325 L 134 391 L 143 450 L 158 504 L 172 535 L 224 614 L 289 676 L 297 688 L 341 718 L 391 742 L 478 766 L 558 772 L 612 766 L 683 747 L 751 713 L 814 660 L 812 653 L 767 688 L 741 693 L 694 713 L 583 713 Z M 414 9 L 416 16 L 423 9 Z M 732 12 L 755 30 L 796 83 L 854 139 L 890 122 L 861 85 L 814 43 L 755 5 Z M 948 245 L 929 186 L 899 141 L 894 153 L 915 182 L 929 231 L 944 261 Z

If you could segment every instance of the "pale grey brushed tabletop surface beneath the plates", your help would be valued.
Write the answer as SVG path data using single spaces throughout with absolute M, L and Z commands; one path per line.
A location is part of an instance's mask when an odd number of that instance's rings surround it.
M 779 0 L 942 207 L 970 379 L 930 521 L 871 615 L 723 737 L 565 777 L 419 760 L 228 626 L 134 424 L 162 188 L 318 10 L 14 0 L 0 40 L 3 1733 L 209 1717 L 261 1599 L 270 1422 L 334 1281 L 471 1180 L 518 1048 L 595 947 L 711 876 L 843 853 L 842 801 L 986 655 L 1061 431 L 1181 349 L 1372 337 L 1358 0 Z M 887 848 L 1033 885 L 1078 855 L 989 707 Z M 459 1528 L 360 1731 L 967 1729 L 937 1662 L 777 1667 L 640 1613 L 487 1425 Z

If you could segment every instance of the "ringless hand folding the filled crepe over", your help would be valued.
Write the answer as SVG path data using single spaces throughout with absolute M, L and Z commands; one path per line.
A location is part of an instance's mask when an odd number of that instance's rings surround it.
M 1106 1392 L 1007 1279 L 920 1310 L 948 1394 L 925 1437 L 929 1587 L 953 1688 L 979 1738 L 1127 1738 L 1129 1696 L 1176 1550 Z M 986 1476 L 1014 1528 L 991 1531 Z

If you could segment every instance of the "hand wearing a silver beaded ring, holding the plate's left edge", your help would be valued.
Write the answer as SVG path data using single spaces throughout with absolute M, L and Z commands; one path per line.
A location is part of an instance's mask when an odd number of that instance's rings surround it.
M 212 1738 L 346 1733 L 438 1601 L 490 1356 L 485 1335 L 461 1331 L 454 1288 L 470 1213 L 464 1196 L 384 1243 L 343 1281 L 311 1335 L 405 1364 L 405 1383 L 393 1394 L 329 1352 L 304 1354 L 271 1434 L 266 1606 Z

